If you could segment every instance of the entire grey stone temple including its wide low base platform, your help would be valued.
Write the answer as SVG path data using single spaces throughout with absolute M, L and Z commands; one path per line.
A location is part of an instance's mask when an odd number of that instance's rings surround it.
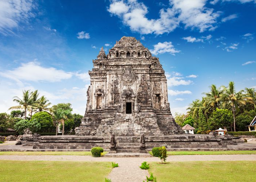
M 23 145 L 44 151 L 101 146 L 110 152 L 142 153 L 160 146 L 168 151 L 234 150 L 239 141 L 230 135 L 184 134 L 170 112 L 159 59 L 134 37 L 122 37 L 107 55 L 102 48 L 89 75 L 86 111 L 76 135 L 33 135 L 23 137 Z

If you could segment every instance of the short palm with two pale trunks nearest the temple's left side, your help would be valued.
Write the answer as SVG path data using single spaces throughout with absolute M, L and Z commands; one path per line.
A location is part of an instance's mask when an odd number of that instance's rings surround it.
M 53 110 L 53 117 L 56 121 L 56 135 L 58 134 L 58 125 L 62 124 L 62 135 L 64 135 L 65 120 L 72 117 L 70 110 L 57 109 Z

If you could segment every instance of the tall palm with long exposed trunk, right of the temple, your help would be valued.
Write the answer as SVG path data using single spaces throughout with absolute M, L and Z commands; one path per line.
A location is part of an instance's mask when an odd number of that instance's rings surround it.
M 246 104 L 245 96 L 243 94 L 243 90 L 236 92 L 234 82 L 229 82 L 228 87 L 223 87 L 223 105 L 228 107 L 233 112 L 233 119 L 234 119 L 234 131 L 236 131 L 236 118 L 235 112 L 239 111 L 241 106 Z

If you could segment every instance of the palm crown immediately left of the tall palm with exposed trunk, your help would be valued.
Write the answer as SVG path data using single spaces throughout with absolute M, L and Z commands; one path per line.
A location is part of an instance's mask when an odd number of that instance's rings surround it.
M 220 102 L 222 100 L 221 94 L 223 90 L 218 90 L 215 85 L 211 85 L 211 91 L 208 93 L 203 93 L 206 95 L 205 102 L 203 106 L 211 107 L 211 110 L 214 111 L 216 108 L 220 108 Z

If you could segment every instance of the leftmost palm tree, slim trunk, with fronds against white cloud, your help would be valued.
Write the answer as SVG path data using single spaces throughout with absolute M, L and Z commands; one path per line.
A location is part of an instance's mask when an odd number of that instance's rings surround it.
M 30 90 L 24 90 L 22 99 L 17 96 L 15 96 L 13 98 L 13 101 L 18 103 L 19 106 L 12 106 L 8 110 L 24 109 L 25 110 L 25 119 L 26 119 L 27 118 L 27 109 L 30 107 L 30 105 L 32 103 L 31 95 L 32 95 L 32 92 L 30 92 Z

